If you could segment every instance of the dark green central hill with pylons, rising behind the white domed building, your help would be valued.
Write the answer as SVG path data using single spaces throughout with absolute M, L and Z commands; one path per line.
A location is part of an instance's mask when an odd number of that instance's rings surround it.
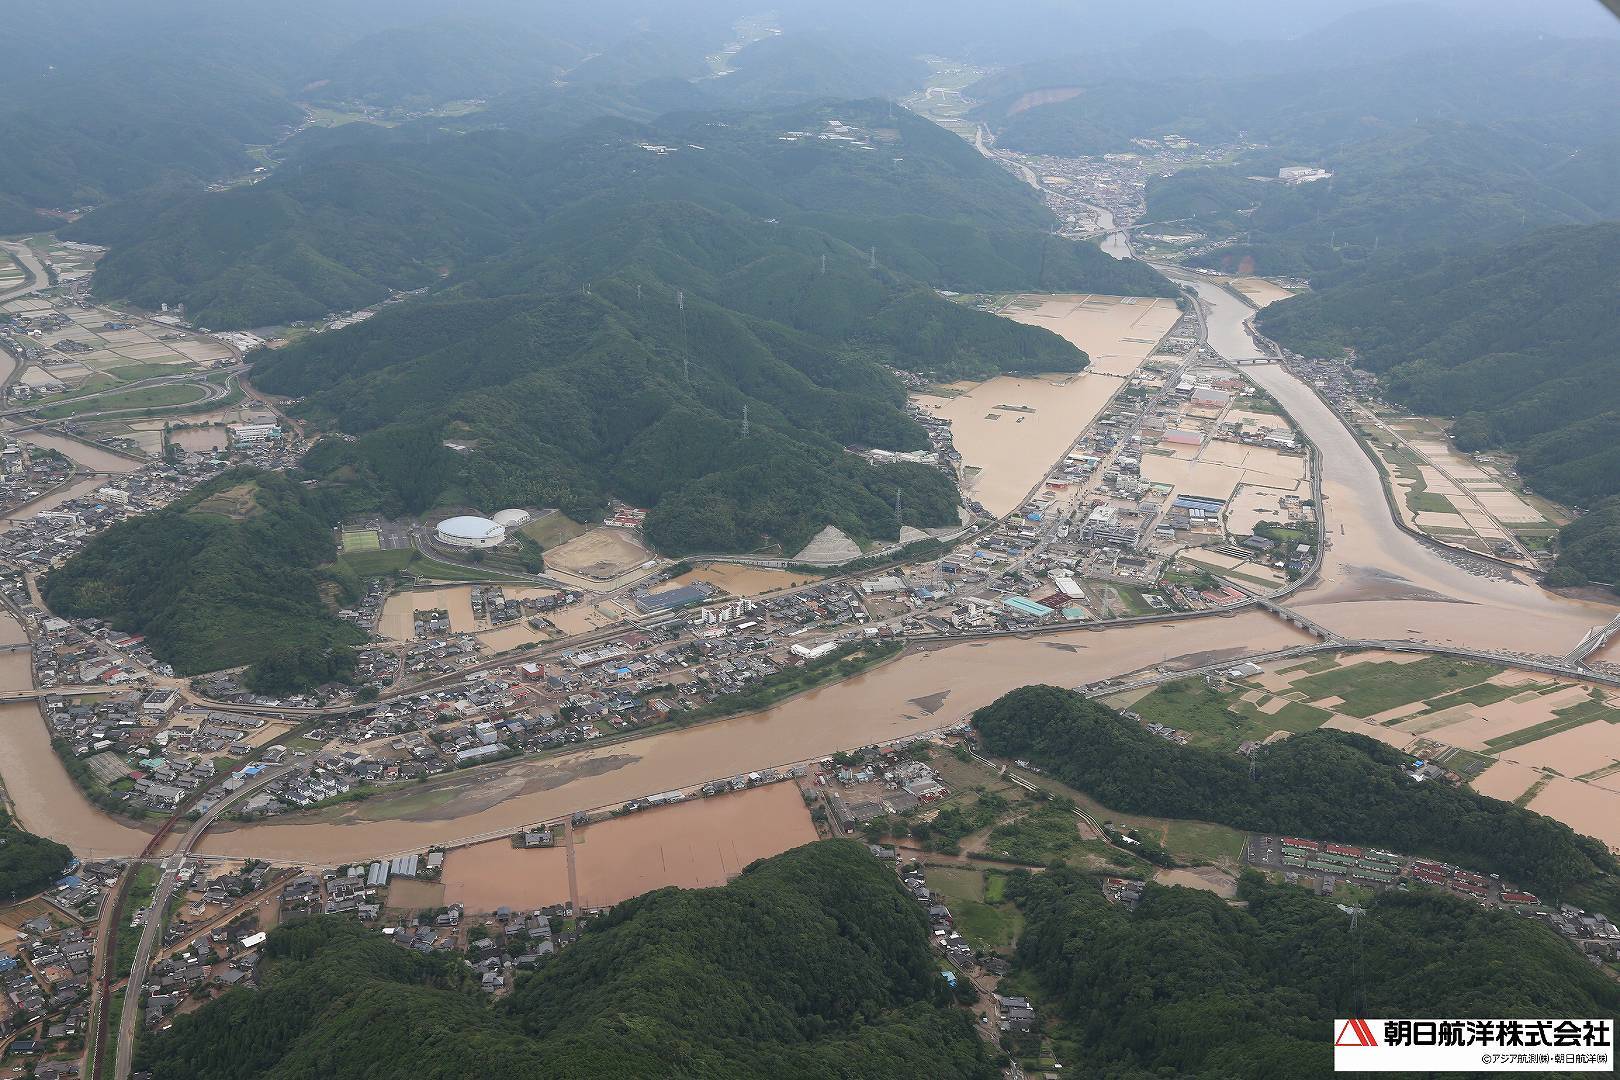
M 805 267 L 794 283 L 820 279 Z M 653 507 L 648 538 L 671 554 L 791 554 L 826 525 L 891 541 L 896 489 L 904 521 L 922 528 L 956 521 L 956 492 L 938 470 L 844 452 L 925 445 L 875 361 L 1084 363 L 1051 335 L 1006 335 L 1001 321 L 932 296 L 912 311 L 904 296 L 852 317 L 841 343 L 697 293 L 682 311 L 640 275 L 598 280 L 588 295 L 413 303 L 269 355 L 256 382 L 306 395 L 308 415 L 360 434 L 322 444 L 308 466 L 356 468 L 384 508 L 561 505 L 583 517 L 614 494 Z M 949 334 L 957 319 L 967 325 Z M 470 450 L 447 450 L 447 439 Z

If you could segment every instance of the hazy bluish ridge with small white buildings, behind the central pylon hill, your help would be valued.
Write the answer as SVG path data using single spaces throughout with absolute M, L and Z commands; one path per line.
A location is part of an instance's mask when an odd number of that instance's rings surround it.
M 112 244 L 99 295 L 185 303 L 204 325 L 241 327 L 476 274 L 489 257 L 543 249 L 569 222 L 663 201 L 818 225 L 878 246 L 885 266 L 936 288 L 1171 295 L 1147 267 L 1050 236 L 1032 191 L 948 131 L 875 100 L 601 120 L 551 141 L 356 131 L 262 183 L 183 196 L 157 214 L 115 206 L 66 235 Z

